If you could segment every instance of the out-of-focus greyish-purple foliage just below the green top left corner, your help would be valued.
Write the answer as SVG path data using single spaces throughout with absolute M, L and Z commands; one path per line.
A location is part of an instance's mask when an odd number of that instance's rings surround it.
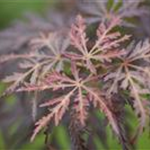
M 26 13 L 24 18 L 26 21 L 16 20 L 12 26 L 0 32 L 1 53 L 19 53 L 20 49 L 27 51 L 29 41 L 40 32 L 65 32 L 73 20 L 72 15 L 51 9 L 43 16 L 30 12 Z

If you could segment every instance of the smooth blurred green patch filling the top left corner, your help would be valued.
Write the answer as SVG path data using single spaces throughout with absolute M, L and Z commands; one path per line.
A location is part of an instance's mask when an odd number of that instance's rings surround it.
M 15 18 L 27 12 L 44 12 L 58 3 L 55 0 L 0 0 L 0 28 L 8 26 Z

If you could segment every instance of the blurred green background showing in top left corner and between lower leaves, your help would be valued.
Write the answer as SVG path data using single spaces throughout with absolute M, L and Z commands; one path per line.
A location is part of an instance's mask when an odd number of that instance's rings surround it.
M 0 29 L 4 29 L 15 20 L 21 19 L 23 14 L 26 12 L 37 12 L 43 13 L 47 10 L 48 7 L 55 7 L 59 5 L 59 1 L 50 0 L 50 1 L 43 1 L 43 0 L 0 0 Z M 0 83 L 0 93 L 4 91 L 5 85 Z M 12 105 L 15 103 L 16 99 L 12 96 L 8 98 L 8 105 Z M 99 117 L 101 115 L 97 114 Z M 128 118 L 128 122 L 131 124 L 132 128 L 137 125 L 137 121 L 135 120 L 134 115 L 131 115 Z M 15 130 L 15 126 L 12 126 L 11 130 Z M 10 131 L 12 132 L 12 131 Z M 115 138 L 113 137 L 110 128 L 108 127 L 108 143 L 110 150 L 121 150 L 120 145 L 117 143 Z M 56 143 L 62 150 L 69 150 L 70 149 L 70 141 L 68 133 L 66 132 L 66 127 L 60 125 L 56 127 L 52 133 L 53 138 L 56 140 Z M 95 138 L 95 144 L 97 150 L 103 150 L 102 144 L 97 137 Z M 21 150 L 40 150 L 44 144 L 44 135 L 41 133 L 39 134 L 33 143 L 27 142 L 21 148 Z M 148 131 L 145 131 L 144 134 L 140 137 L 137 143 L 138 150 L 150 150 L 150 139 Z M 0 150 L 7 150 L 7 143 L 4 142 L 3 136 L 0 131 Z

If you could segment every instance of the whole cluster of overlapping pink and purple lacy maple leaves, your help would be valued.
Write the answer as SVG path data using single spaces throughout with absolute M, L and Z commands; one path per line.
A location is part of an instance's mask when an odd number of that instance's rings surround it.
M 108 8 L 108 2 L 98 1 L 100 11 L 84 5 L 90 15 L 95 14 L 91 10 L 97 15 L 92 17 L 90 25 L 100 21 L 94 38 L 88 37 L 86 32 L 88 19 L 77 15 L 65 33 L 40 31 L 39 36 L 25 40 L 27 51 L 0 57 L 0 63 L 17 60 L 19 68 L 3 80 L 11 84 L 2 96 L 17 92 L 33 93 L 34 118 L 37 93 L 47 91 L 50 97 L 40 104 L 40 107 L 48 108 L 48 113 L 35 123 L 31 141 L 50 122 L 54 121 L 57 126 L 63 116 L 70 113 L 70 133 L 74 145 L 78 145 L 75 149 L 85 149 L 85 145 L 79 144 L 82 139 L 78 133 L 86 128 L 90 110 L 94 109 L 106 116 L 123 149 L 130 149 L 131 141 L 125 133 L 121 114 L 129 105 L 138 116 L 139 126 L 133 137 L 136 139 L 146 127 L 150 115 L 150 102 L 144 96 L 150 94 L 150 41 L 133 41 L 124 46 L 131 35 L 122 35 L 117 27 L 129 25 L 124 20 L 126 17 L 145 13 L 139 4 L 139 0 L 113 1 L 113 6 Z M 79 138 L 74 138 L 73 134 Z

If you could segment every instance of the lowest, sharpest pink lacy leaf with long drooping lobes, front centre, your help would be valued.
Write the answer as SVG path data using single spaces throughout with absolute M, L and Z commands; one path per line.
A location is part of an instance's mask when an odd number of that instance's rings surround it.
M 53 91 L 67 91 L 65 96 L 61 96 L 55 100 L 50 100 L 50 102 L 42 105 L 49 106 L 58 103 L 56 106 L 50 109 L 50 113 L 46 117 L 44 117 L 36 124 L 37 127 L 32 139 L 34 139 L 35 135 L 40 131 L 41 128 L 43 128 L 49 123 L 49 121 L 51 121 L 52 117 L 54 117 L 55 123 L 58 124 L 62 118 L 62 115 L 65 113 L 65 110 L 68 109 L 71 98 L 73 99 L 72 107 L 76 114 L 78 114 L 78 119 L 82 125 L 85 124 L 85 120 L 88 116 L 87 108 L 90 106 L 90 103 L 92 103 L 94 107 L 98 108 L 107 116 L 112 129 L 116 135 L 119 135 L 120 133 L 116 124 L 116 120 L 114 119 L 111 110 L 105 104 L 105 100 L 100 97 L 100 91 L 98 90 L 98 92 L 96 92 L 95 88 L 87 86 L 87 83 L 90 81 L 97 80 L 96 77 L 93 77 L 92 75 L 84 78 L 81 77 L 79 70 L 76 68 L 74 63 L 72 64 L 72 75 L 73 77 L 70 78 L 65 74 L 53 72 L 45 78 L 43 83 L 41 82 L 41 85 L 34 85 L 33 87 L 27 85 L 26 87 L 22 88 L 21 91 L 30 92 L 35 90 L 43 91 L 45 89 L 52 89 Z

